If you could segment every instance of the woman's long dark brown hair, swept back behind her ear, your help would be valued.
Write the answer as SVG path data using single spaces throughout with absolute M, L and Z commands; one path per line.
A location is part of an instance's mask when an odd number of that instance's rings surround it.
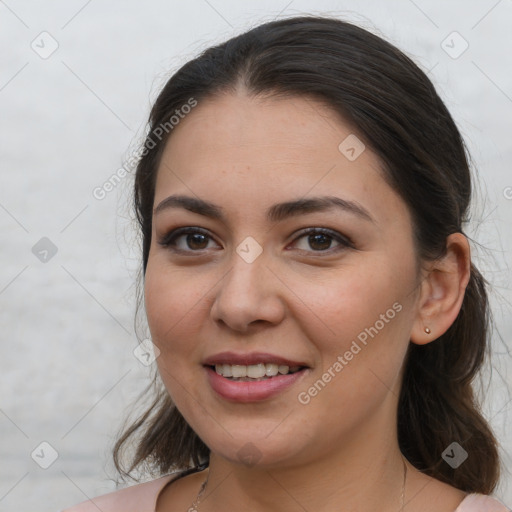
M 471 197 L 468 155 L 425 73 L 397 48 L 360 27 L 329 17 L 301 16 L 260 25 L 207 49 L 181 67 L 161 91 L 145 141 L 145 148 L 151 149 L 142 152 L 135 176 L 142 274 L 151 244 L 156 173 L 172 135 L 170 116 L 190 105 L 191 98 L 201 102 L 240 85 L 252 95 L 316 98 L 355 127 L 409 207 L 418 261 L 441 256 L 448 235 L 463 232 Z M 165 133 L 157 131 L 165 123 Z M 489 330 L 486 282 L 472 265 L 453 325 L 432 343 L 410 344 L 398 405 L 404 456 L 419 470 L 466 492 L 490 493 L 499 477 L 496 440 L 472 388 L 488 352 Z M 207 464 L 208 447 L 156 374 L 154 385 L 153 401 L 115 445 L 116 468 L 124 475 L 140 467 L 165 474 Z M 452 442 L 469 453 L 457 469 L 442 459 Z M 126 447 L 134 453 L 125 467 L 121 461 Z

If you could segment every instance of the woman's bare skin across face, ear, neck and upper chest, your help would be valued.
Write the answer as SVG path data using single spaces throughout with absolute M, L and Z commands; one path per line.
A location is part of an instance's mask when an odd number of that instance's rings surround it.
M 411 216 L 376 155 L 366 148 L 349 161 L 338 150 L 353 133 L 315 100 L 252 97 L 242 89 L 200 102 L 173 130 L 155 207 L 181 194 L 215 203 L 225 218 L 183 208 L 154 214 L 145 303 L 161 351 L 158 369 L 212 451 L 209 469 L 166 487 L 157 510 L 188 510 L 208 473 L 201 511 L 400 509 L 404 467 L 395 416 L 404 357 L 410 342 L 435 340 L 457 316 L 469 246 L 454 234 L 443 259 L 418 261 Z M 371 220 L 336 209 L 266 218 L 275 203 L 312 196 L 357 203 Z M 186 226 L 208 237 L 187 244 L 181 236 L 181 253 L 159 243 Z M 299 232 L 310 227 L 353 244 L 308 242 Z M 236 252 L 249 236 L 263 248 L 252 263 Z M 300 403 L 298 393 L 393 304 L 400 312 L 307 405 Z M 212 390 L 202 366 L 226 350 L 270 352 L 310 370 L 271 399 L 232 403 Z M 254 465 L 238 454 L 247 443 L 257 453 Z M 453 512 L 463 499 L 407 467 L 405 510 Z

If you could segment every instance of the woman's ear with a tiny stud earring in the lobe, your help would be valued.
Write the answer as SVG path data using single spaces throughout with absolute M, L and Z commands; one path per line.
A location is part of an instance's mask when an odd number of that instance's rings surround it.
M 429 263 L 425 272 L 411 332 L 411 341 L 417 345 L 439 338 L 459 314 L 471 273 L 467 238 L 462 233 L 451 234 L 446 239 L 446 254 Z

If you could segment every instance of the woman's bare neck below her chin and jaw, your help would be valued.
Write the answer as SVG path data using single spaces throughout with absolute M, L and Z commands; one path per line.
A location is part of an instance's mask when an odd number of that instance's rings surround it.
M 200 512 L 251 510 L 324 512 L 401 510 L 404 462 L 396 434 L 359 430 L 344 448 L 297 464 L 261 468 L 212 454 Z

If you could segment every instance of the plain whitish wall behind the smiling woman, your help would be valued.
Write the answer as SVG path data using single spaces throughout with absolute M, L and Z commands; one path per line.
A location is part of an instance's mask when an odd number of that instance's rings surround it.
M 512 504 L 510 0 L 5 0 L 0 511 L 55 512 L 114 489 L 109 450 L 147 382 L 148 368 L 132 353 L 131 176 L 103 200 L 93 189 L 134 150 L 150 102 L 179 65 L 259 22 L 303 13 L 354 20 L 403 49 L 430 70 L 466 138 L 480 176 L 470 234 L 483 246 L 475 252 L 501 334 L 485 411 L 508 468 L 497 496 Z M 58 43 L 46 59 L 31 48 L 51 48 L 43 31 Z M 469 44 L 455 59 L 441 46 L 453 31 Z M 447 42 L 452 53 L 465 44 L 453 35 Z M 42 237 L 57 247 L 46 263 L 32 252 Z M 58 452 L 46 470 L 30 456 L 43 441 Z

